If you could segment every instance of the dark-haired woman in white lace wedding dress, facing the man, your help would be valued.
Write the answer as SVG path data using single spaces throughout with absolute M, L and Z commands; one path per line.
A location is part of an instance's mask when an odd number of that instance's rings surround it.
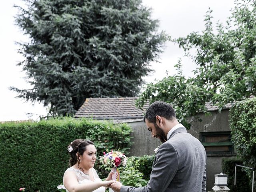
M 68 168 L 63 176 L 63 183 L 67 192 L 104 192 L 112 184 L 112 174 L 102 181 L 93 168 L 96 161 L 94 143 L 76 139 L 68 146 L 70 154 Z

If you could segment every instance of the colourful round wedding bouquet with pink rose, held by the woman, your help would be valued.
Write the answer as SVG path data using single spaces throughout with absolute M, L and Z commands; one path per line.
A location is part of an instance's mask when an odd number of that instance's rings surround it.
M 103 153 L 104 156 L 100 158 L 100 162 L 106 167 L 112 168 L 111 172 L 114 172 L 112 175 L 112 180 L 116 180 L 120 182 L 120 173 L 118 171 L 118 167 L 125 167 L 127 163 L 127 158 L 126 156 L 119 152 L 119 151 L 113 151 L 111 150 L 110 152 Z M 110 188 L 110 191 L 111 188 Z

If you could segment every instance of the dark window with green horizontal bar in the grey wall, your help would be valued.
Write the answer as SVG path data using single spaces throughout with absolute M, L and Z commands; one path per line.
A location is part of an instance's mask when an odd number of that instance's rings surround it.
M 206 150 L 206 154 L 234 155 L 230 139 L 230 131 L 200 133 L 200 140 Z

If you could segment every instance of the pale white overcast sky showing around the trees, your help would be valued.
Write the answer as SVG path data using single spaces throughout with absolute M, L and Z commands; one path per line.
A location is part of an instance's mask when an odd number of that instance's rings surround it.
M 26 41 L 22 31 L 14 25 L 14 16 L 17 13 L 13 4 L 22 5 L 21 0 L 6 0 L 0 6 L 0 122 L 11 120 L 36 120 L 39 115 L 46 115 L 47 110 L 42 104 L 32 105 L 30 102 L 15 98 L 17 95 L 8 89 L 14 86 L 20 89 L 30 88 L 24 80 L 25 73 L 20 66 L 16 66 L 22 56 L 17 53 L 15 41 Z M 214 25 L 218 20 L 225 23 L 231 15 L 230 9 L 234 0 L 143 0 L 143 4 L 152 8 L 152 18 L 160 21 L 159 30 L 164 30 L 173 38 L 184 37 L 193 31 L 204 30 L 204 15 L 210 7 L 213 12 Z M 173 66 L 184 52 L 172 43 L 166 43 L 164 52 L 160 55 L 160 63 L 152 63 L 155 70 L 145 77 L 146 82 L 153 82 L 175 73 Z M 188 58 L 182 58 L 183 70 L 186 76 L 192 75 L 195 65 Z M 28 115 L 28 113 L 32 114 Z

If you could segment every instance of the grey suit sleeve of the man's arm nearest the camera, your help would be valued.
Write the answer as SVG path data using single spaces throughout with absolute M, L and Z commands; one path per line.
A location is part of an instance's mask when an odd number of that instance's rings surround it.
M 172 144 L 166 142 L 158 149 L 155 160 L 147 186 L 122 186 L 120 192 L 165 192 L 178 170 L 178 155 Z

